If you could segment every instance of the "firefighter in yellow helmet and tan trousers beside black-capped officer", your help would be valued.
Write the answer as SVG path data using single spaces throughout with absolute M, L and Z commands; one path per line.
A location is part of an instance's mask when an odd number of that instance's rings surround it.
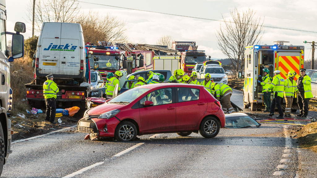
M 298 93 L 296 82 L 294 80 L 296 74 L 297 73 L 293 70 L 289 71 L 288 74 L 286 74 L 288 78 L 285 79 L 284 82 L 284 98 L 286 101 L 285 117 L 291 117 L 293 98 L 295 96 L 295 92 Z

